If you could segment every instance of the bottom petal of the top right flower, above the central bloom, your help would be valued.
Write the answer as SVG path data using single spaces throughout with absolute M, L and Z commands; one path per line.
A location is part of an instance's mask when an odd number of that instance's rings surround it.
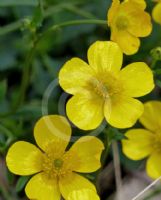
M 117 42 L 126 55 L 135 54 L 140 47 L 140 40 L 127 31 L 116 31 L 113 28 L 111 40 Z

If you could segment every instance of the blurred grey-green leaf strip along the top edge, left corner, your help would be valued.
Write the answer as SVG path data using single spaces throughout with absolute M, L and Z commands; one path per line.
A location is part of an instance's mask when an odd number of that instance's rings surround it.
M 4 6 L 37 6 L 37 0 L 1 0 L 0 7 Z

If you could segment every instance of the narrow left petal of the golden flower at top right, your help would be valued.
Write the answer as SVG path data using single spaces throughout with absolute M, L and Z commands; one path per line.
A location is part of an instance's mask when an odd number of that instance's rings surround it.
M 116 13 L 118 13 L 119 7 L 120 7 L 120 0 L 113 0 L 110 9 L 107 12 L 107 20 L 109 26 L 112 25 Z

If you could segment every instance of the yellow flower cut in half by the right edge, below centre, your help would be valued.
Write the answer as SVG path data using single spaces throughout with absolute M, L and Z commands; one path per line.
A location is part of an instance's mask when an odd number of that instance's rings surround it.
M 146 129 L 131 129 L 122 141 L 124 154 L 133 160 L 148 157 L 147 174 L 152 178 L 161 176 L 161 102 L 145 103 L 140 122 Z

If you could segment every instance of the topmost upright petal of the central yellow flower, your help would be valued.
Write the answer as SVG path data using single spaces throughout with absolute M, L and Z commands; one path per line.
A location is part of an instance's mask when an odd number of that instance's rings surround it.
M 90 66 L 99 72 L 118 72 L 122 66 L 123 54 L 114 42 L 97 41 L 88 50 Z

